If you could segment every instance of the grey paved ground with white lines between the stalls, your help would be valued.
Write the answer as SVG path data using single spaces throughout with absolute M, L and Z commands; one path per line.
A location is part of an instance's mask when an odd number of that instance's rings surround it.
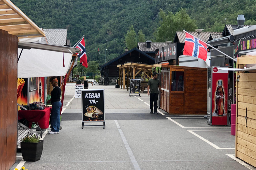
M 163 110 L 149 114 L 147 94 L 129 97 L 129 92 L 115 86 L 89 86 L 101 88 L 105 89 L 105 129 L 81 128 L 81 99 L 73 98 L 74 86 L 69 84 L 60 133 L 43 134 L 39 161 L 21 161 L 17 153 L 11 169 L 23 165 L 28 170 L 248 169 L 231 158 L 235 137 L 230 126 L 209 126 L 203 116 L 167 115 Z

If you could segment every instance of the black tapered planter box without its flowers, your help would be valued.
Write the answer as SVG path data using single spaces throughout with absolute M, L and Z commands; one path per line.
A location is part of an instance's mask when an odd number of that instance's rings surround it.
M 38 143 L 20 142 L 21 154 L 24 161 L 35 162 L 40 160 L 43 152 L 44 141 Z

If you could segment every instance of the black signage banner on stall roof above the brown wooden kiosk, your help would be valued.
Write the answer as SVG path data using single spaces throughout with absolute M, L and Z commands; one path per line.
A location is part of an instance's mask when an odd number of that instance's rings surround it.
M 156 58 L 156 63 L 161 62 L 161 61 L 176 59 L 177 43 L 169 44 L 167 46 L 159 48 L 158 52 L 159 52 L 159 54 L 157 55 L 158 58 Z

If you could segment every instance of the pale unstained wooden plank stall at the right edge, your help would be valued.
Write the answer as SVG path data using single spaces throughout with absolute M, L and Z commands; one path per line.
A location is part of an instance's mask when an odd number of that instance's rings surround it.
M 237 58 L 237 68 L 256 64 L 256 56 Z M 256 70 L 237 72 L 236 157 L 256 167 Z

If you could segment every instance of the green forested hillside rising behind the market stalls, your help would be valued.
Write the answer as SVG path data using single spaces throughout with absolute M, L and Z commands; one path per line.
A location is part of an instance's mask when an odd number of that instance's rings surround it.
M 12 0 L 37 26 L 43 29 L 67 29 L 67 39 L 74 45 L 85 35 L 88 61 L 99 65 L 124 52 L 124 35 L 133 25 L 142 30 L 146 40 L 155 41 L 159 9 L 176 13 L 185 8 L 191 19 L 204 31 L 222 31 L 226 24 L 236 24 L 244 14 L 245 24 L 256 24 L 255 0 Z

